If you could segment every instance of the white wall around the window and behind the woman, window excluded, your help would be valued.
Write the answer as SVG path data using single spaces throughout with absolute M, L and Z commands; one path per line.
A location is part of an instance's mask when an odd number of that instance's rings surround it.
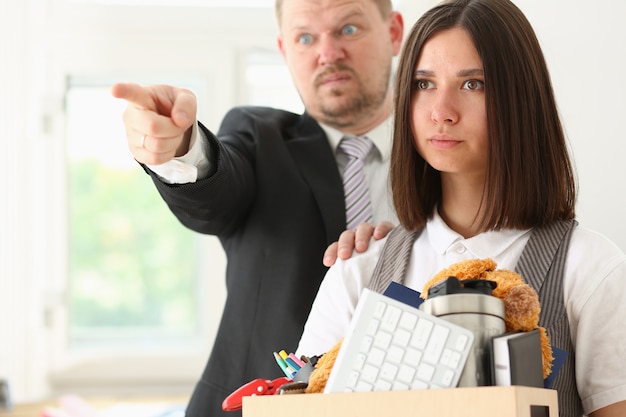
M 406 25 L 431 0 L 398 2 Z M 619 0 L 518 0 L 538 33 L 574 152 L 579 179 L 578 217 L 585 227 L 626 250 L 626 3 Z M 239 26 L 233 28 L 232 25 Z M 91 8 L 67 0 L 0 3 L 0 378 L 10 378 L 18 400 L 46 391 L 49 361 L 44 310 L 62 277 L 59 229 L 51 224 L 63 203 L 55 195 L 63 152 L 60 111 L 67 71 L 112 68 L 124 74 L 140 60 L 147 73 L 168 68 L 205 74 L 215 97 L 203 119 L 217 127 L 227 108 L 242 101 L 238 60 L 249 45 L 274 48 L 271 10 L 202 8 Z M 183 60 L 164 56 L 169 45 Z M 48 115 L 46 122 L 44 116 Z M 40 179 L 52 177 L 52 188 Z M 57 176 L 59 178 L 57 178 Z

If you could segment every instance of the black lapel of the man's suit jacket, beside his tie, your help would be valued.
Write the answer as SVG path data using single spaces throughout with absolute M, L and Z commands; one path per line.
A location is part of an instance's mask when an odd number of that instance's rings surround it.
M 287 147 L 311 187 L 330 244 L 346 229 L 343 181 L 322 128 L 305 114 L 298 130 L 298 137 L 287 141 Z

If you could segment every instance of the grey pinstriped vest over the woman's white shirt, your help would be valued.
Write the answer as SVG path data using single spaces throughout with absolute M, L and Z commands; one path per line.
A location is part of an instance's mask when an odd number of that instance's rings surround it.
M 534 229 L 515 267 L 539 294 L 539 325 L 546 328 L 553 346 L 569 352 L 553 387 L 558 391 L 561 417 L 583 415 L 576 387 L 574 347 L 563 301 L 565 260 L 571 233 L 577 224 L 570 220 Z M 404 282 L 413 243 L 421 232 L 421 229 L 409 232 L 399 226 L 389 233 L 368 288 L 382 293 L 391 281 Z

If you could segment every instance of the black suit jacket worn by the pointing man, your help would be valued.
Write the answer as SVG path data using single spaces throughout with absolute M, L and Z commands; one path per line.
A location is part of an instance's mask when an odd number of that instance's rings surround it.
M 346 227 L 343 186 L 307 114 L 242 107 L 217 138 L 200 127 L 217 155 L 209 178 L 168 185 L 148 172 L 178 219 L 217 235 L 226 251 L 226 305 L 187 416 L 235 417 L 223 399 L 255 378 L 283 376 L 272 352 L 297 347 L 326 273 L 322 254 Z

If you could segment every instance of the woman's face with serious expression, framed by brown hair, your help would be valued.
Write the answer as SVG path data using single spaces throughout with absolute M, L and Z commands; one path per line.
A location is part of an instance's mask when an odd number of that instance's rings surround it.
M 482 61 L 463 29 L 441 31 L 424 44 L 413 76 L 411 129 L 417 151 L 442 176 L 484 178 L 484 81 Z

